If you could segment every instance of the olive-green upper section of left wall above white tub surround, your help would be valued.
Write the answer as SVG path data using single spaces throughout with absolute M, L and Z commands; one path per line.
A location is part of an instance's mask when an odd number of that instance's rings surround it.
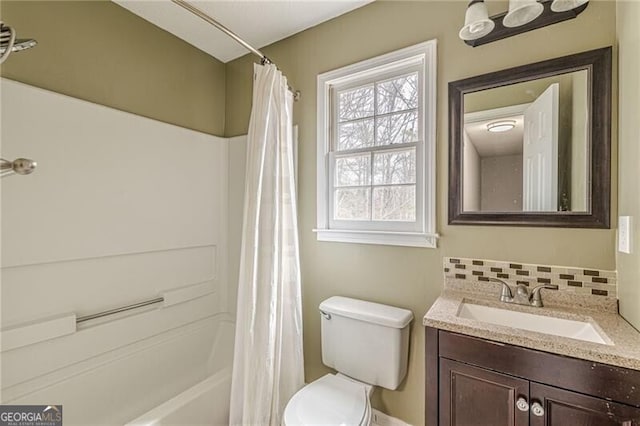
M 3 77 L 222 136 L 225 66 L 111 1 L 5 1 L 0 17 L 38 46 Z

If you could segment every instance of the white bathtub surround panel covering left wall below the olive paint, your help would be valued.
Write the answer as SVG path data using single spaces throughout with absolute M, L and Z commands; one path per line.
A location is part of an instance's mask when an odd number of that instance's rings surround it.
M 123 425 L 230 370 L 230 142 L 4 78 L 0 91 L 2 155 L 39 163 L 2 181 L 0 403 Z M 228 423 L 227 375 L 192 424 Z

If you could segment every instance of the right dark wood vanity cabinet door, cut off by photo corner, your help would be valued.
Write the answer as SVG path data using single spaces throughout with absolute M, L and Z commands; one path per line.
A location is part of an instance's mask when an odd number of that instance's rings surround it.
M 640 408 L 531 382 L 531 426 L 638 426 Z M 542 411 L 536 409 L 540 404 Z

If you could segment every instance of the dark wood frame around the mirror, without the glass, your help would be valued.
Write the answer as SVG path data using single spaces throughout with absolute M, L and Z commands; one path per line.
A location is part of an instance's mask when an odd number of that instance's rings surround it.
M 587 212 L 465 212 L 462 206 L 464 95 L 588 70 L 589 201 Z M 611 204 L 611 47 L 449 83 L 449 224 L 609 228 Z

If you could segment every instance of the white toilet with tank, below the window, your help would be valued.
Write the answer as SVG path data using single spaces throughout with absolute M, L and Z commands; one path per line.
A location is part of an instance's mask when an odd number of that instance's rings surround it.
M 337 371 L 300 389 L 283 424 L 368 426 L 374 386 L 395 390 L 407 373 L 406 309 L 333 296 L 320 304 L 322 362 Z

